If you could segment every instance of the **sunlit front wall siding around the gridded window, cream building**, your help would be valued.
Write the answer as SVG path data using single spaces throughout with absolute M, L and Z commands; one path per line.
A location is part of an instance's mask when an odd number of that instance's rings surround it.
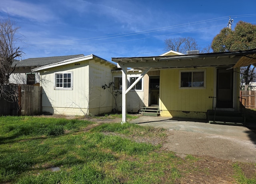
M 51 114 L 84 115 L 88 107 L 88 61 L 80 65 L 65 65 L 41 71 L 43 112 Z M 73 72 L 72 90 L 54 90 L 54 72 Z

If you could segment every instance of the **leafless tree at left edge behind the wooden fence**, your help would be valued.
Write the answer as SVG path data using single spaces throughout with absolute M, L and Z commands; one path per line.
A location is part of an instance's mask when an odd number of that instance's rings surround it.
M 15 58 L 22 55 L 20 47 L 16 47 L 19 27 L 16 27 L 10 18 L 0 20 L 0 98 L 13 100 L 14 92 L 9 91 L 11 88 L 6 87 L 10 74 L 14 72 L 11 69 Z

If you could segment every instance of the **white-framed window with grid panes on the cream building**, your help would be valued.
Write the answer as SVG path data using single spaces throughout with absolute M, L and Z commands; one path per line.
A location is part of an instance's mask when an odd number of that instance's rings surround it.
M 73 73 L 55 73 L 55 89 L 72 89 Z

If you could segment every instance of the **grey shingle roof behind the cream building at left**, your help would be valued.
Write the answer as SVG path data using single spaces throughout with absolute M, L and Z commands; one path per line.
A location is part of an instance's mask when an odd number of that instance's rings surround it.
M 29 58 L 24 59 L 22 61 L 15 60 L 12 63 L 12 67 L 14 67 L 16 64 L 16 67 L 41 67 L 45 65 L 50 65 L 54 63 L 59 63 L 61 61 L 67 60 L 67 59 L 74 59 L 78 57 L 84 57 L 83 54 L 78 55 L 69 55 L 69 56 L 54 56 L 54 57 L 38 57 L 38 58 Z

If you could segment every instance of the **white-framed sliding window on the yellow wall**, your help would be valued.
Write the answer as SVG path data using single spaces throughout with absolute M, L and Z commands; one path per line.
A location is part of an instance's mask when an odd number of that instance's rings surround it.
M 205 71 L 181 71 L 180 87 L 204 88 L 205 87 Z

